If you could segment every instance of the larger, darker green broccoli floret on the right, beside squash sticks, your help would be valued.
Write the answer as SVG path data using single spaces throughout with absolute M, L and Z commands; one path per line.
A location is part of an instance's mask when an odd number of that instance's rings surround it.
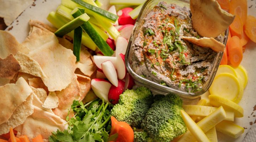
M 170 142 L 187 127 L 181 117 L 182 100 L 175 94 L 156 96 L 142 121 L 142 129 L 157 142 Z

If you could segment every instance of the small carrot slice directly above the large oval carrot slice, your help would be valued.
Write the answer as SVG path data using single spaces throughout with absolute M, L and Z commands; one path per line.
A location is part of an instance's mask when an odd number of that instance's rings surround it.
M 229 26 L 231 36 L 242 37 L 243 24 L 239 16 L 235 16 L 234 21 Z

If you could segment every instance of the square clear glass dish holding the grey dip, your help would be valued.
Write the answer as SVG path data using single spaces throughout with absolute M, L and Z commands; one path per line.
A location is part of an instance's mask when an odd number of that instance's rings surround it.
M 142 75 L 138 75 L 132 69 L 132 64 L 134 64 L 134 60 L 133 60 L 134 55 L 133 55 L 133 49 L 132 48 L 133 48 L 133 45 L 135 44 L 135 39 L 138 37 L 139 33 L 142 32 L 141 30 L 143 30 L 144 18 L 147 16 L 148 12 L 150 12 L 150 10 L 152 10 L 154 8 L 154 6 L 156 6 L 161 1 L 163 1 L 163 0 L 147 0 L 145 2 L 145 4 L 143 5 L 142 10 L 139 13 L 139 16 L 138 16 L 137 21 L 134 25 L 132 35 L 130 37 L 128 47 L 127 47 L 127 50 L 126 50 L 125 62 L 126 62 L 127 71 L 134 78 L 136 84 L 148 87 L 151 90 L 156 91 L 157 93 L 164 93 L 164 94 L 175 93 L 175 94 L 179 95 L 182 99 L 186 99 L 186 100 L 196 99 L 196 98 L 200 97 L 200 95 L 202 95 L 203 93 L 208 91 L 210 85 L 212 84 L 214 76 L 217 72 L 217 69 L 220 65 L 220 61 L 222 60 L 223 52 L 218 52 L 218 53 L 215 54 L 215 57 L 212 61 L 212 68 L 211 68 L 212 70 L 208 74 L 208 80 L 206 82 L 204 82 L 204 84 L 202 85 L 202 87 L 200 89 L 198 89 L 198 91 L 193 91 L 193 92 L 184 91 L 182 89 L 179 89 L 177 86 L 176 87 L 166 86 L 166 85 L 164 85 L 165 84 L 164 82 L 160 83 L 160 82 L 151 81 L 149 79 L 144 78 L 144 76 L 142 76 Z M 165 2 L 167 4 L 176 4 L 177 6 L 181 6 L 181 7 L 188 7 L 189 8 L 189 6 L 190 6 L 190 2 L 188 0 L 165 0 Z M 161 7 L 166 9 L 165 6 L 161 6 Z M 169 27 L 171 27 L 171 26 L 169 26 Z M 147 31 L 147 32 L 148 32 L 148 34 L 150 34 L 150 31 Z M 143 32 L 143 33 L 144 33 L 144 36 L 145 36 L 145 32 Z M 226 40 L 227 40 L 227 37 L 228 37 L 228 29 L 225 32 L 223 32 L 221 37 L 222 37 L 223 44 L 226 44 Z M 144 37 L 143 37 L 143 39 L 144 39 Z M 155 42 L 155 40 L 153 41 L 153 43 L 154 42 Z M 165 46 L 164 42 L 163 42 L 163 45 Z M 148 47 L 149 47 L 149 45 L 148 45 Z M 144 48 L 144 44 L 143 44 L 143 48 Z M 156 49 L 156 51 L 158 51 L 158 49 Z M 154 52 L 155 52 L 155 50 L 154 50 Z M 157 56 L 157 55 L 155 55 L 155 56 Z M 158 64 L 159 64 L 159 62 L 158 62 Z M 151 66 L 152 65 L 153 64 L 151 64 Z M 190 64 L 188 64 L 188 65 L 190 65 Z M 138 64 L 138 67 L 139 66 L 140 65 Z M 174 66 L 175 66 L 175 64 L 174 64 Z M 154 66 L 152 66 L 152 67 L 154 67 Z M 141 72 L 143 72 L 143 70 Z M 172 73 L 173 72 L 174 71 L 172 71 Z M 152 71 L 152 73 L 154 74 L 153 71 Z

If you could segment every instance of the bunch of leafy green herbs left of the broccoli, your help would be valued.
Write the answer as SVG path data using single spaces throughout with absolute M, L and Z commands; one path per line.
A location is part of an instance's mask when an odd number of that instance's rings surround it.
M 110 110 L 112 106 L 100 99 L 87 104 L 73 101 L 75 116 L 69 120 L 68 130 L 52 132 L 50 142 L 106 142 L 110 131 Z

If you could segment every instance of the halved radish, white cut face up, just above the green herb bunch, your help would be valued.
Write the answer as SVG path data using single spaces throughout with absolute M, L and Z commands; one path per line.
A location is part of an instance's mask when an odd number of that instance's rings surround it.
M 111 83 L 104 79 L 94 78 L 91 80 L 91 88 L 100 99 L 104 99 L 104 102 L 108 102 L 108 92 L 110 90 Z

